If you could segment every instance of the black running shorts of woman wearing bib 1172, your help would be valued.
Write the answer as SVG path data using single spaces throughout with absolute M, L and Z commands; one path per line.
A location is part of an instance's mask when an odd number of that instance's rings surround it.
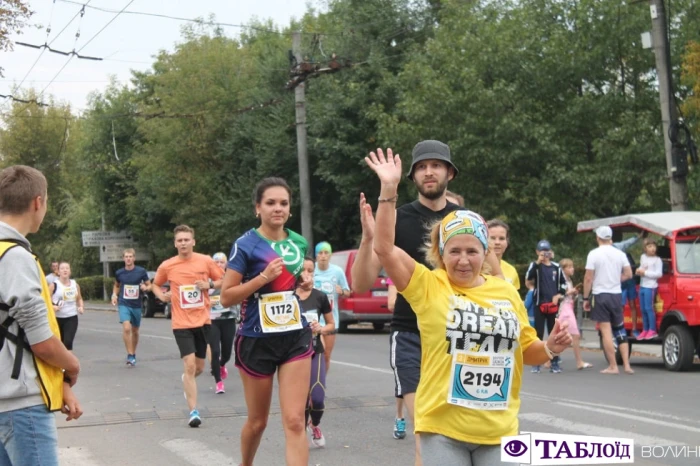
M 309 327 L 271 337 L 239 334 L 234 348 L 236 367 L 256 378 L 271 377 L 282 364 L 311 357 L 314 353 Z

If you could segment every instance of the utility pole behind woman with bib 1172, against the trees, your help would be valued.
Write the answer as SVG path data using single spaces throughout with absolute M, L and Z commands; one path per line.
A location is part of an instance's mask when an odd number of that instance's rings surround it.
M 301 33 L 292 35 L 292 53 L 297 64 L 303 62 L 301 54 Z M 297 160 L 299 162 L 299 192 L 301 194 L 301 234 L 309 247 L 313 247 L 313 223 L 311 222 L 311 177 L 309 175 L 309 158 L 306 152 L 306 85 L 301 81 L 294 88 L 297 127 Z

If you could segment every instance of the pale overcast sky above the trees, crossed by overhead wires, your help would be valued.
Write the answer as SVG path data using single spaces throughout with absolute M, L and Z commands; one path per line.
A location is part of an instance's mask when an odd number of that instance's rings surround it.
M 29 0 L 29 6 L 35 12 L 30 23 L 42 28 L 28 26 L 22 34 L 13 35 L 13 39 L 37 45 L 48 42 L 52 49 L 61 51 L 77 51 L 85 47 L 80 55 L 106 60 L 80 60 L 73 57 L 60 71 L 68 57 L 48 51 L 42 54 L 41 50 L 15 45 L 14 51 L 0 52 L 0 64 L 5 75 L 0 78 L 0 94 L 12 94 L 13 86 L 19 85 L 26 76 L 22 89 L 34 87 L 37 92 L 44 91 L 44 96 L 53 95 L 59 103 L 70 103 L 79 112 L 87 107 L 87 98 L 91 92 L 104 90 L 110 76 L 127 84 L 131 69 L 149 69 L 153 57 L 160 50 L 172 51 L 180 41 L 181 27 L 192 24 L 128 14 L 129 11 L 192 19 L 208 19 L 213 14 L 218 22 L 242 25 L 255 18 L 271 19 L 278 26 L 287 26 L 292 18 L 299 19 L 303 16 L 309 3 L 308 0 L 90 0 L 82 19 L 78 15 L 71 22 L 76 13 L 80 12 L 81 4 L 86 2 L 88 0 Z M 311 4 L 318 7 L 318 1 L 312 1 Z M 116 16 L 116 12 L 127 5 L 124 13 Z M 114 12 L 99 11 L 90 8 L 91 6 Z M 112 19 L 114 21 L 99 32 Z M 48 26 L 50 33 L 47 41 Z M 78 30 L 80 37 L 76 42 Z M 229 37 L 235 37 L 240 32 L 240 28 L 224 27 L 224 33 Z M 94 39 L 88 43 L 93 36 Z M 32 68 L 35 62 L 36 65 Z M 51 83 L 54 77 L 55 80 Z M 7 105 L 7 99 L 0 99 L 0 107 L 7 108 Z

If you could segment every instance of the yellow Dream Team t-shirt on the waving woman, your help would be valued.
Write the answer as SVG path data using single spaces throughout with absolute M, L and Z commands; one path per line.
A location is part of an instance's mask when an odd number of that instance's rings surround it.
M 515 288 L 496 277 L 484 279 L 478 287 L 453 287 L 444 270 L 431 271 L 416 264 L 401 292 L 416 313 L 421 335 L 417 433 L 481 445 L 496 445 L 501 437 L 518 434 L 523 352 L 537 341 L 537 334 Z M 515 358 L 506 409 L 481 410 L 448 403 L 453 348 Z

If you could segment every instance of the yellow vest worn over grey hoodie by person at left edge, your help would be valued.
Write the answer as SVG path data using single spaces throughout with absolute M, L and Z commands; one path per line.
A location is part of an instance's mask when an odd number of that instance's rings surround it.
M 22 244 L 18 244 L 12 241 L 3 240 L 0 241 L 0 259 L 5 255 L 5 253 L 13 247 L 23 247 Z M 39 259 L 36 255 L 32 254 L 34 259 L 36 259 L 36 265 L 39 269 L 39 277 L 41 277 L 41 297 L 46 303 L 46 317 L 49 321 L 49 328 L 51 328 L 51 333 L 53 333 L 59 339 L 61 338 L 60 331 L 58 329 L 58 322 L 56 322 L 56 314 L 53 310 L 53 304 L 51 303 L 51 291 L 49 291 L 49 284 L 44 276 L 44 271 L 41 269 L 41 264 L 39 264 Z M 9 315 L 8 315 L 8 318 Z M 7 326 L 9 327 L 9 325 Z M 23 333 L 23 332 L 22 332 Z M 16 338 L 15 338 L 16 340 Z M 22 338 L 23 341 L 17 342 L 24 346 L 24 350 L 31 352 L 31 347 Z M 10 338 L 5 338 L 5 344 L 10 344 Z M 18 349 L 18 355 L 20 350 Z M 19 355 L 21 358 L 21 355 Z M 34 359 L 34 367 L 37 373 L 37 384 L 41 391 L 41 397 L 44 399 L 44 404 L 49 408 L 49 411 L 59 411 L 63 407 L 63 370 L 59 367 L 52 366 L 43 360 L 32 355 Z M 20 361 L 21 363 L 21 361 Z

